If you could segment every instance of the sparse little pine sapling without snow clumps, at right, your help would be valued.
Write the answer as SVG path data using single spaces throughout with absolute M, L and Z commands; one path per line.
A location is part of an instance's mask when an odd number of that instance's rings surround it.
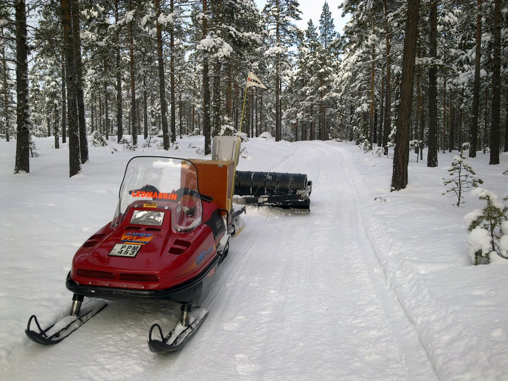
M 483 184 L 483 180 L 478 178 L 471 166 L 465 163 L 466 157 L 464 151 L 460 152 L 459 156 L 454 156 L 452 167 L 448 169 L 448 174 L 452 176 L 450 179 L 444 180 L 444 185 L 450 185 L 443 195 L 451 194 L 450 197 L 457 197 L 457 207 L 464 203 L 464 193 L 469 192 L 471 188 L 475 188 L 478 184 Z

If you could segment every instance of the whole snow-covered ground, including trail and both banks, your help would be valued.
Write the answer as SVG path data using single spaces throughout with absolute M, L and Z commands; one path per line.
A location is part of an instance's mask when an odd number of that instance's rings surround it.
M 203 158 L 199 137 L 170 152 L 90 147 L 69 178 L 67 145 L 37 139 L 30 173 L 14 175 L 15 141 L 0 142 L 0 378 L 3 380 L 506 380 L 508 261 L 472 266 L 463 216 L 439 167 L 410 155 L 409 185 L 390 192 L 392 161 L 351 143 L 242 144 L 239 170 L 305 173 L 311 213 L 249 207 L 246 226 L 203 306 L 207 320 L 179 353 L 155 355 L 153 323 L 169 329 L 172 303 L 110 302 L 63 342 L 24 334 L 67 311 L 77 248 L 107 223 L 134 155 Z M 112 153 L 112 148 L 118 151 Z M 508 155 L 467 162 L 499 197 Z

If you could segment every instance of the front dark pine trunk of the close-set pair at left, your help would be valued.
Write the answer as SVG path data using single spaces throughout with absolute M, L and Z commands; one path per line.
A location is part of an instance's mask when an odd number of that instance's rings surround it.
M 81 171 L 79 148 L 78 101 L 76 94 L 76 71 L 72 33 L 72 9 L 70 0 L 61 0 L 63 24 L 63 49 L 66 63 L 67 114 L 69 121 L 69 177 Z

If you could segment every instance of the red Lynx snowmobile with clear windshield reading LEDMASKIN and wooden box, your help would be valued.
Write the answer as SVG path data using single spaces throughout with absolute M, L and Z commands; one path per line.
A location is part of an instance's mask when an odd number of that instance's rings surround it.
M 233 209 L 233 181 L 231 161 L 132 158 L 112 221 L 74 256 L 66 280 L 74 293 L 69 316 L 42 329 L 33 315 L 26 335 L 42 344 L 59 342 L 104 308 L 104 299 L 172 300 L 181 304 L 180 322 L 167 336 L 154 324 L 148 345 L 152 352 L 178 350 L 205 319 L 208 311 L 193 305 L 242 227 L 245 207 Z M 92 299 L 83 303 L 84 297 Z M 160 340 L 152 339 L 153 330 Z

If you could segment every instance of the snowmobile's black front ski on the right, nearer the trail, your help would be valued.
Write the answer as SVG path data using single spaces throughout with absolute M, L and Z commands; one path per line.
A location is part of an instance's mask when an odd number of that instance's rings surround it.
M 150 333 L 148 334 L 148 346 L 150 351 L 154 353 L 170 353 L 180 350 L 187 343 L 188 339 L 198 330 L 207 315 L 208 311 L 206 309 L 202 307 L 193 307 L 192 314 L 190 315 L 190 324 L 184 327 L 181 322 L 178 322 L 166 337 L 164 337 L 160 325 L 152 325 Z M 152 339 L 152 331 L 155 327 L 158 328 L 162 340 Z

